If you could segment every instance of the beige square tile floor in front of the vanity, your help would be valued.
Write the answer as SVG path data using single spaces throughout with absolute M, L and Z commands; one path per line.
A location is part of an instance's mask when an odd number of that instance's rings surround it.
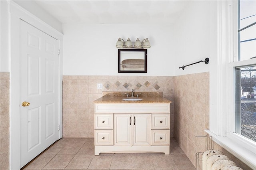
M 126 153 L 94 155 L 93 138 L 62 138 L 23 169 L 33 170 L 195 170 L 177 142 L 170 155 Z

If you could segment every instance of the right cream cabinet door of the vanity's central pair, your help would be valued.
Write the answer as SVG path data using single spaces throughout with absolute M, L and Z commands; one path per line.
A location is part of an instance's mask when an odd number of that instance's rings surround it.
M 151 114 L 133 114 L 133 141 L 134 146 L 150 146 Z

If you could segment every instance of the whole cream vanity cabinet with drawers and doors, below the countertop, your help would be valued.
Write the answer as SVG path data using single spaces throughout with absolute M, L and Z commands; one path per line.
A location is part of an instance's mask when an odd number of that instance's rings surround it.
M 95 103 L 95 155 L 170 153 L 170 103 Z

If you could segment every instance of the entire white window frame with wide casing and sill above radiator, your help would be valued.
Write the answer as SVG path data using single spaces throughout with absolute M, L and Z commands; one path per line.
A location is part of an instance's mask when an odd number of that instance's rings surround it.
M 235 67 L 252 65 L 256 58 L 238 61 L 238 0 L 218 1 L 217 56 L 210 67 L 210 130 L 214 142 L 256 169 L 256 144 L 235 133 Z M 213 59 L 212 59 L 213 60 Z

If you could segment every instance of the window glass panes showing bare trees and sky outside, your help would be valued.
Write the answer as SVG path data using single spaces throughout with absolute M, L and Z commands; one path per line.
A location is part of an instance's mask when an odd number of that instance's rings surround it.
M 253 60 L 256 57 L 256 1 L 238 1 L 237 36 L 239 66 L 233 69 L 236 113 L 234 132 L 256 142 L 256 63 Z

